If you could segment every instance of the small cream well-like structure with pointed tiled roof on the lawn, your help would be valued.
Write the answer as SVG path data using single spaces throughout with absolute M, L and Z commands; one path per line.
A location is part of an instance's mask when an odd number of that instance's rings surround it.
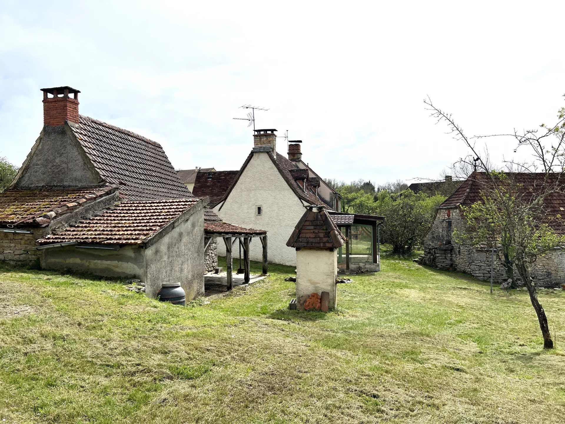
M 329 293 L 329 309 L 337 306 L 337 249 L 345 238 L 322 206 L 308 205 L 286 245 L 296 249 L 298 310 L 312 293 Z

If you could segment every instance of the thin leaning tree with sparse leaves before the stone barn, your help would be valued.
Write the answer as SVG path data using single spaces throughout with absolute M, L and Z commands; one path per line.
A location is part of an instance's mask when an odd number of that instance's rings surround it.
M 539 129 L 516 131 L 510 134 L 517 149 L 527 149 L 531 162 L 504 161 L 502 170 L 481 158 L 476 140 L 468 138 L 455 123 L 451 114 L 434 106 L 429 97 L 424 103 L 437 122 L 445 121 L 456 140 L 463 142 L 472 157 L 459 161 L 462 167 L 471 165 L 479 174 L 475 180 L 481 185 L 481 202 L 464 209 L 467 220 L 467 237 L 473 243 L 491 246 L 503 245 L 508 261 L 516 267 L 528 289 L 544 338 L 544 349 L 553 348 L 545 310 L 537 298 L 537 285 L 532 280 L 531 266 L 539 255 L 563 247 L 565 239 L 559 232 L 563 222 L 559 214 L 547 207 L 551 200 L 563 201 L 565 172 L 565 108 L 557 115 L 553 126 L 542 124 Z M 514 152 L 516 152 L 514 150 Z M 528 179 L 529 178 L 529 179 Z M 558 230 L 556 232 L 555 230 Z

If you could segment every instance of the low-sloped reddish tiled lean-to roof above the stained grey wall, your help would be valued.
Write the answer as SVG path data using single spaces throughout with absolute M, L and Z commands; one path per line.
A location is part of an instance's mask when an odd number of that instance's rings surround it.
M 85 219 L 38 240 L 40 244 L 141 244 L 200 199 L 125 200 L 98 217 Z

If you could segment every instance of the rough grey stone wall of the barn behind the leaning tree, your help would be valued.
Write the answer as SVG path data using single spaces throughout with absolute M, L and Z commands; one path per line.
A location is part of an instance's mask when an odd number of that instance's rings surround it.
M 419 262 L 436 269 L 466 272 L 479 280 L 490 280 L 490 250 L 475 249 L 472 246 L 457 244 L 451 233 L 457 228 L 463 231 L 464 222 L 458 208 L 438 209 L 436 219 L 424 241 L 424 255 Z M 451 230 L 449 228 L 451 222 Z M 501 257 L 495 252 L 493 280 L 500 284 L 507 282 L 505 267 Z M 565 251 L 554 250 L 543 257 L 537 257 L 531 264 L 532 279 L 538 287 L 557 287 L 565 284 Z M 520 284 L 518 271 L 514 269 L 516 283 Z

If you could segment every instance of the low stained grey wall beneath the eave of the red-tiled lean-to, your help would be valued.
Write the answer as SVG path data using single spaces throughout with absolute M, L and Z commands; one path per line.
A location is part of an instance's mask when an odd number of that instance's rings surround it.
M 76 249 L 75 246 L 45 249 L 41 266 L 47 270 L 85 272 L 86 274 L 138 278 L 145 280 L 146 250 L 123 246 L 120 250 Z

